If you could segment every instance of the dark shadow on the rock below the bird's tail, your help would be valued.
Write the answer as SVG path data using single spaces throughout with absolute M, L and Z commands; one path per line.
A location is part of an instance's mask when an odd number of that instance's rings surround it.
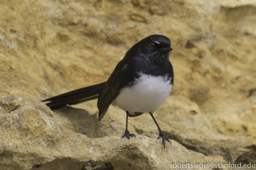
M 54 110 L 54 112 L 57 113 L 54 116 L 58 117 L 66 128 L 90 138 L 112 135 L 121 136 L 125 131 L 125 125 L 120 122 L 115 123 L 116 120 L 113 117 L 105 116 L 104 119 L 98 121 L 98 112 L 89 113 L 85 109 L 69 106 Z

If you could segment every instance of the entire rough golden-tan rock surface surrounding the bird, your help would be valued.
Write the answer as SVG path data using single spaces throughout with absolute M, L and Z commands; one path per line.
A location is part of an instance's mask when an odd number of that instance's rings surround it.
M 256 163 L 255 1 L 3 0 L 0 6 L 0 169 Z M 119 108 L 98 121 L 97 101 L 54 111 L 40 102 L 106 81 L 126 51 L 152 34 L 169 37 L 174 49 L 174 89 L 154 113 L 172 139 L 165 150 L 148 114 L 129 118 L 136 138 L 127 140 Z

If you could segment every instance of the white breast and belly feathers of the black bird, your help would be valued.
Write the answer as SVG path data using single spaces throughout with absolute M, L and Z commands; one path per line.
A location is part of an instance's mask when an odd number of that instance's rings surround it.
M 173 85 L 170 82 L 167 75 L 141 74 L 135 85 L 121 90 L 112 105 L 129 112 L 155 112 L 171 93 Z

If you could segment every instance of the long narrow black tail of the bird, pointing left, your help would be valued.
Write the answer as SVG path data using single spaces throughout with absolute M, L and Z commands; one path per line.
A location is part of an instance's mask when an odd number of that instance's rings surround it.
M 94 100 L 98 98 L 100 90 L 105 83 L 106 82 L 60 94 L 58 96 L 43 100 L 42 102 L 50 102 L 46 104 L 48 107 L 51 109 L 58 109 L 66 105 L 76 105 L 89 100 Z

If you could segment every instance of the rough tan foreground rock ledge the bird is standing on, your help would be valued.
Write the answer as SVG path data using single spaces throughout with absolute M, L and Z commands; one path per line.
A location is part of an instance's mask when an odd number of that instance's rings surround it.
M 121 138 L 122 133 L 119 136 L 88 137 L 77 133 L 75 128 L 65 127 L 64 115 L 54 113 L 50 116 L 48 112 L 51 110 L 42 109 L 41 103 L 25 103 L 19 109 L 0 115 L 0 150 L 5 153 L 0 159 L 3 169 L 89 169 L 92 168 L 89 161 L 97 161 L 97 168 L 115 169 L 171 169 L 171 164 L 177 162 L 226 163 L 221 156 L 205 157 L 174 140 L 163 149 L 156 134 L 137 135 L 130 140 Z M 73 114 L 80 113 L 74 111 Z M 95 121 L 93 116 L 86 119 Z M 109 123 L 109 120 L 103 122 Z M 85 121 L 77 123 L 87 126 Z M 104 131 L 106 126 L 97 128 Z M 91 129 L 95 130 L 95 127 Z M 86 162 L 86 166 L 82 162 Z

